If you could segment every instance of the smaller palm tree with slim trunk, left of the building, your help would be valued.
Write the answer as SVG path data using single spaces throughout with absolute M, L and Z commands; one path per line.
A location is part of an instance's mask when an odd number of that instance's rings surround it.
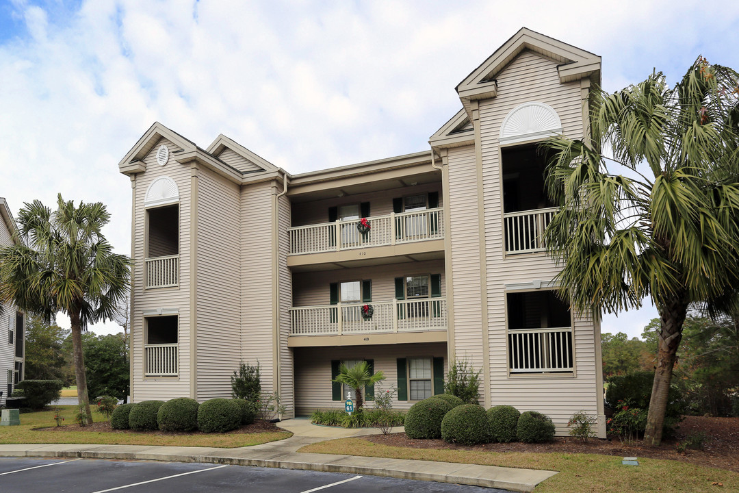
M 78 402 L 91 424 L 81 333 L 115 315 L 128 290 L 131 261 L 114 254 L 103 237 L 110 214 L 102 203 L 75 207 L 59 194 L 57 207 L 52 212 L 35 200 L 21 208 L 21 244 L 0 249 L 0 300 L 47 323 L 58 311 L 69 316 Z

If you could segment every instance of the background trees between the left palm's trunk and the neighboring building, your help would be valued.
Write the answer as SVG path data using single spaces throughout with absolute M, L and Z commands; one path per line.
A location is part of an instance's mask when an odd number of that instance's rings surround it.
M 28 380 L 66 380 L 64 339 L 67 331 L 57 324 L 44 324 L 30 316 L 26 324 L 25 378 Z

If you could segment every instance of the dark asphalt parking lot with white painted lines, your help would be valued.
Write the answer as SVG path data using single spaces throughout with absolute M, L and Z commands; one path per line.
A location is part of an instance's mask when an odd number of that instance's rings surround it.
M 2 493 L 507 493 L 428 481 L 146 460 L 0 458 Z

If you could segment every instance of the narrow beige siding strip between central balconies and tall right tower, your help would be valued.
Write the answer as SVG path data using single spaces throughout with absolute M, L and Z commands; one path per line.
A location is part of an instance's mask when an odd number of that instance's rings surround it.
M 454 296 L 454 356 L 483 366 L 480 214 L 474 146 L 449 149 L 449 227 Z

